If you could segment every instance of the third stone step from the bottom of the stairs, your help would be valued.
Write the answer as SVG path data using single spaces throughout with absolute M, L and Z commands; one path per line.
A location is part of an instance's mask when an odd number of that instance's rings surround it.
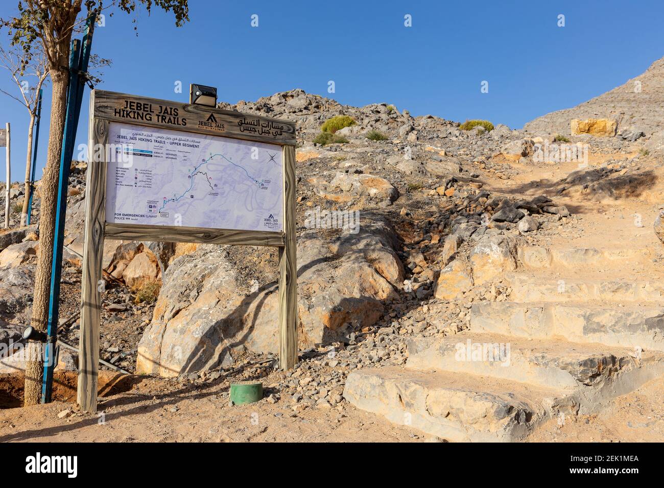
M 479 301 L 471 307 L 470 329 L 532 339 L 557 336 L 579 343 L 664 351 L 664 307 L 661 306 Z

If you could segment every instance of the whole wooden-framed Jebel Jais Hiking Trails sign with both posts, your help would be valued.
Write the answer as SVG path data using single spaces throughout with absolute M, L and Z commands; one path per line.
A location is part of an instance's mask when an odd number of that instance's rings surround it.
M 295 124 L 93 90 L 89 139 L 81 409 L 97 406 L 105 238 L 278 247 L 280 366 L 295 366 Z

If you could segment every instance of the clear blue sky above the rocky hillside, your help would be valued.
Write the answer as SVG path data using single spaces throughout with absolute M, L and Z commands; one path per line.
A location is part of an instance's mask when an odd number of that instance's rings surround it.
M 3 0 L 0 17 L 17 0 Z M 661 0 L 616 1 L 219 1 L 190 0 L 191 21 L 144 10 L 98 27 L 93 52 L 114 62 L 104 90 L 187 101 L 189 84 L 219 100 L 256 100 L 291 88 L 363 106 L 389 102 L 414 116 L 483 118 L 520 128 L 584 102 L 664 56 Z M 251 27 L 252 14 L 258 27 Z M 412 27 L 404 27 L 404 15 Z M 558 27 L 558 15 L 565 27 Z M 137 19 L 138 37 L 132 19 Z M 0 33 L 0 42 L 7 37 Z M 183 92 L 176 94 L 180 80 Z M 327 94 L 334 80 L 335 94 Z M 489 93 L 480 92 L 483 80 Z M 15 87 L 0 72 L 0 86 Z M 77 143 L 88 130 L 86 90 Z M 44 166 L 50 87 L 44 99 L 38 178 Z M 12 180 L 23 181 L 27 112 L 0 97 L 10 122 Z M 76 157 L 78 151 L 74 151 Z M 5 153 L 0 151 L 0 179 Z

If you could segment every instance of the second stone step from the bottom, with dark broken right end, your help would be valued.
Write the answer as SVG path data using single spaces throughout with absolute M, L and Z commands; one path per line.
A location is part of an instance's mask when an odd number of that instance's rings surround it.
M 557 388 L 574 398 L 581 413 L 591 413 L 663 374 L 664 353 L 464 332 L 410 339 L 406 366 Z

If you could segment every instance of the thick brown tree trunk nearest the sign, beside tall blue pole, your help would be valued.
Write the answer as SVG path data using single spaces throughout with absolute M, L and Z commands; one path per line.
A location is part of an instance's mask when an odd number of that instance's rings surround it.
M 39 252 L 35 270 L 35 295 L 33 299 L 32 326 L 46 331 L 48 323 L 48 296 L 50 294 L 50 269 L 53 260 L 55 213 L 62 152 L 62 133 L 66 118 L 68 74 L 52 70 L 53 98 L 50 109 L 50 130 L 46 171 L 39 185 L 41 205 L 39 210 Z M 41 399 L 43 356 L 29 357 L 25 368 L 25 406 L 38 404 Z

